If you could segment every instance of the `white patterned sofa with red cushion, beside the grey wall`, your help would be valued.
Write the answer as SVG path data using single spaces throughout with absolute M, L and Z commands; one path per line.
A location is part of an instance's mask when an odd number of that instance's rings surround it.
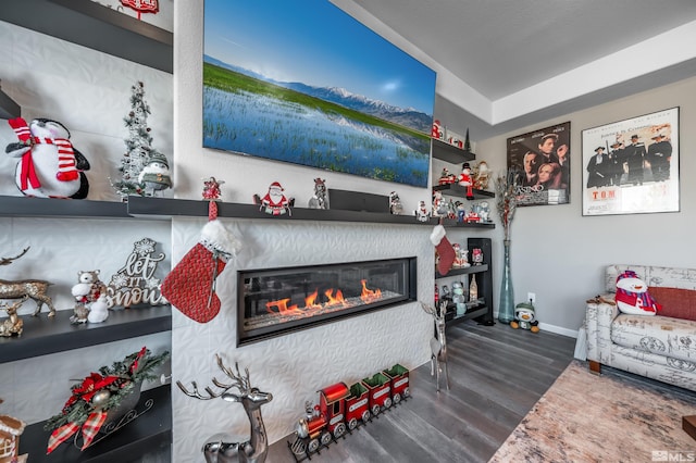
M 658 315 L 619 312 L 616 281 L 626 270 L 647 283 L 663 306 Z M 607 365 L 696 390 L 696 270 L 609 265 L 605 278 L 607 295 L 587 301 L 589 368 L 599 373 Z

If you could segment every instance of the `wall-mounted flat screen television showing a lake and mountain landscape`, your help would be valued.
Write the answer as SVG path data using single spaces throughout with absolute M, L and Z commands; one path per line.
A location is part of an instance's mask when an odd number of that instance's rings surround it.
M 203 147 L 427 187 L 433 70 L 326 0 L 206 0 Z

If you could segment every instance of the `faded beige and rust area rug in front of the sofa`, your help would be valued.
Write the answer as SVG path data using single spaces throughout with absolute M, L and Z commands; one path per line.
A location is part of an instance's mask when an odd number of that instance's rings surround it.
M 490 462 L 696 461 L 696 393 L 574 360 Z

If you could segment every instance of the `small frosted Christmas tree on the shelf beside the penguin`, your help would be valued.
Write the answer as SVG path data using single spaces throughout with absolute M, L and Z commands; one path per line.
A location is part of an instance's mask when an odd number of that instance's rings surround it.
M 148 114 L 150 107 L 145 101 L 145 85 L 138 82 L 130 87 L 130 112 L 123 118 L 128 129 L 128 138 L 125 139 L 126 152 L 121 160 L 119 172 L 121 180 L 112 186 L 122 199 L 128 195 L 145 195 L 144 186 L 138 182 L 138 175 L 142 167 L 148 164 L 152 157 L 162 157 L 158 150 L 152 148 L 152 137 L 148 127 Z

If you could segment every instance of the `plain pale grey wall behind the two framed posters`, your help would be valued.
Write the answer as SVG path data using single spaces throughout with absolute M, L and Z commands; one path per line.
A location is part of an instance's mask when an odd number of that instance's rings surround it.
M 681 212 L 583 216 L 581 132 L 674 107 L 680 107 Z M 571 122 L 571 202 L 518 209 L 511 262 L 515 300 L 535 292 L 542 327 L 572 334 L 582 324 L 585 300 L 602 292 L 604 266 L 696 266 L 692 252 L 696 184 L 691 179 L 696 173 L 696 78 L 480 141 L 477 152 L 500 171 L 506 165 L 507 138 L 567 121 Z M 501 255 L 501 242 L 494 246 Z M 499 271 L 498 266 L 496 281 Z

